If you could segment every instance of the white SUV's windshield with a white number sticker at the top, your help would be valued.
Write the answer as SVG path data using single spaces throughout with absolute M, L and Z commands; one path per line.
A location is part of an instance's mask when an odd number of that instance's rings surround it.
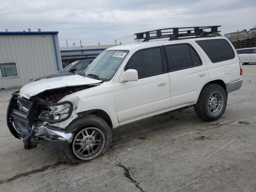
M 128 52 L 127 50 L 103 51 L 84 71 L 84 75 L 99 80 L 110 80 Z

